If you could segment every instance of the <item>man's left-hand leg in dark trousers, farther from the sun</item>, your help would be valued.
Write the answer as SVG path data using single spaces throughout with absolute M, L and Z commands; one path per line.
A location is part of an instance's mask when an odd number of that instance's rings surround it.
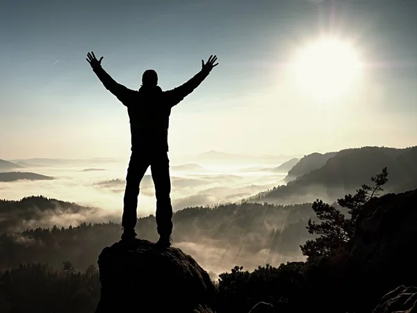
M 122 216 L 122 227 L 124 232 L 122 239 L 136 237 L 135 226 L 137 220 L 138 195 L 140 181 L 149 166 L 149 160 L 138 152 L 132 152 L 127 168 L 126 188 L 124 190 L 124 207 Z

